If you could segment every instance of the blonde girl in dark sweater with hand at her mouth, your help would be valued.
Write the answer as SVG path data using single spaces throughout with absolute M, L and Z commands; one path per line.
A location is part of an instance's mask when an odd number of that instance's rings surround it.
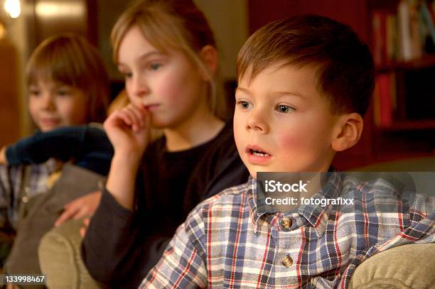
M 114 157 L 82 257 L 101 283 L 136 288 L 188 212 L 249 174 L 222 120 L 213 33 L 193 1 L 137 2 L 112 45 L 131 104 L 104 122 Z M 163 131 L 154 142 L 151 127 Z

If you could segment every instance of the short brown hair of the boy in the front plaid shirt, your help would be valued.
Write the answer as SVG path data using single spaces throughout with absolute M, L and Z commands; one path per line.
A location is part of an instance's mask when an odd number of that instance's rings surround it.
M 254 78 L 276 62 L 316 67 L 317 89 L 333 113 L 364 116 L 375 87 L 367 44 L 343 23 L 316 15 L 291 16 L 259 28 L 237 57 L 237 80 Z

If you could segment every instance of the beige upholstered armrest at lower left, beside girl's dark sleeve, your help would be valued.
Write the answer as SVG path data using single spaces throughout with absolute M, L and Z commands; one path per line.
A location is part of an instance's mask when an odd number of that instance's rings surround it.
M 41 271 L 47 287 L 55 289 L 93 289 L 100 286 L 87 272 L 80 257 L 80 227 L 83 220 L 71 220 L 48 231 L 38 249 Z

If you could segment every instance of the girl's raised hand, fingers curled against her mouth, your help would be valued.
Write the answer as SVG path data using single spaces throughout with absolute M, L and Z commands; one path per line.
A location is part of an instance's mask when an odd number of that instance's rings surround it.
M 110 114 L 104 129 L 115 153 L 140 158 L 148 145 L 149 113 L 144 107 L 129 104 Z

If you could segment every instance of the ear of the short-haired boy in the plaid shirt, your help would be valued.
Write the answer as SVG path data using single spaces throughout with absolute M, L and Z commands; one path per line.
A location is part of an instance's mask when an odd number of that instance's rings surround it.
M 360 114 L 355 112 L 339 116 L 334 134 L 332 148 L 334 151 L 345 151 L 355 146 L 363 133 L 364 121 Z

